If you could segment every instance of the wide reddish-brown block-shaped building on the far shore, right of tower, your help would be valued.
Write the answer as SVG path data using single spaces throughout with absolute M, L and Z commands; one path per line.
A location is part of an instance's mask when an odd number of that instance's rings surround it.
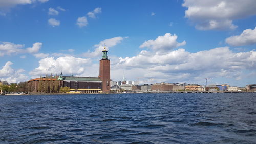
M 151 87 L 152 91 L 176 91 L 178 90 L 178 85 L 170 83 L 154 83 Z

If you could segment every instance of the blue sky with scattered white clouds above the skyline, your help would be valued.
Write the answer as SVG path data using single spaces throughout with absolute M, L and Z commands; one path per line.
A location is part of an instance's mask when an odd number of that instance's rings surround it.
M 255 0 L 0 0 L 0 80 L 99 75 L 111 79 L 256 83 Z

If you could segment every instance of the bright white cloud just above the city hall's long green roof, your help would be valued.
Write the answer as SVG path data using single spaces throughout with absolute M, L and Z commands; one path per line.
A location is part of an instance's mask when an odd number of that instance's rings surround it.
M 41 74 L 57 73 L 62 70 L 64 74 L 83 74 L 91 65 L 90 59 L 76 58 L 73 56 L 62 56 L 59 58 L 47 57 L 39 61 L 39 66 L 30 71 L 29 74 L 38 77 Z

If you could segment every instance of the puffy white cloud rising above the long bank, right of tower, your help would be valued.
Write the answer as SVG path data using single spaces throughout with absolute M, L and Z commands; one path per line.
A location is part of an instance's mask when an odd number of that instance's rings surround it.
M 177 38 L 178 36 L 176 34 L 172 35 L 170 33 L 166 33 L 164 36 L 158 36 L 156 40 L 145 41 L 140 45 L 140 48 L 148 47 L 154 51 L 166 52 L 186 44 L 185 41 L 178 43 Z

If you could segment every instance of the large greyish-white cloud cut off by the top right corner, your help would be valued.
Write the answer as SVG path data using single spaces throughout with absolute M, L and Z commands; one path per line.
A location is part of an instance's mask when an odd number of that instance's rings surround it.
M 182 6 L 188 8 L 185 17 L 194 22 L 199 30 L 235 29 L 237 26 L 233 20 L 256 14 L 254 0 L 184 0 Z

